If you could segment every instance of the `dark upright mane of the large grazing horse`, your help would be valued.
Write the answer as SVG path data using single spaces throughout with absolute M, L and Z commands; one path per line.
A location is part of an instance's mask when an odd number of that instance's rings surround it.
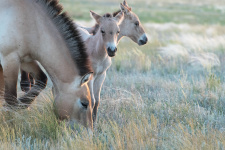
M 71 53 L 72 59 L 76 64 L 79 75 L 83 76 L 88 72 L 92 72 L 91 64 L 86 52 L 83 40 L 74 26 L 72 19 L 66 12 L 62 12 L 62 5 L 58 0 L 35 0 L 43 5 L 47 14 L 56 25 L 58 31 L 64 38 L 67 47 Z

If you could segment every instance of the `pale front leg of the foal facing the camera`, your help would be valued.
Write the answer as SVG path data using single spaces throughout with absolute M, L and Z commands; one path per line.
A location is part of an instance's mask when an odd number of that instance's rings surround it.
M 105 77 L 106 77 L 106 72 L 104 72 L 101 75 L 98 75 L 94 81 L 95 106 L 93 109 L 93 123 L 95 123 L 97 120 L 98 106 L 100 103 L 100 93 L 101 93 L 101 88 L 105 80 Z

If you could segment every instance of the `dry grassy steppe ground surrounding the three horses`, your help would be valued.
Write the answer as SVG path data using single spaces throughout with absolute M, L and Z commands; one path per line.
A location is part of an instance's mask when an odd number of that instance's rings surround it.
M 113 12 L 122 0 L 61 2 L 92 26 L 89 10 Z M 128 3 L 149 43 L 120 42 L 93 136 L 58 123 L 49 86 L 29 110 L 0 109 L 0 149 L 225 149 L 225 2 Z

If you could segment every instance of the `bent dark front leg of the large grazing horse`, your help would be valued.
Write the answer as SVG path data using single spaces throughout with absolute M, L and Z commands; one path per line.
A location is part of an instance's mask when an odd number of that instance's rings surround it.
M 36 61 L 22 63 L 21 68 L 26 72 L 30 72 L 36 81 L 30 91 L 19 98 L 20 102 L 26 104 L 26 107 L 29 107 L 29 105 L 35 100 L 39 93 L 46 87 L 48 78 Z

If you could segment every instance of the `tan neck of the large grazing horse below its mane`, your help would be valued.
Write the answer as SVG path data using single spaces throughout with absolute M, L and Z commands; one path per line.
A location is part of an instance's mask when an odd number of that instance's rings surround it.
M 37 24 L 40 25 L 38 31 L 41 31 L 41 33 L 37 31 L 37 36 L 40 37 L 39 49 L 38 54 L 34 51 L 31 53 L 48 72 L 54 84 L 73 82 L 78 76 L 78 69 L 65 40 L 45 13 L 37 17 Z

